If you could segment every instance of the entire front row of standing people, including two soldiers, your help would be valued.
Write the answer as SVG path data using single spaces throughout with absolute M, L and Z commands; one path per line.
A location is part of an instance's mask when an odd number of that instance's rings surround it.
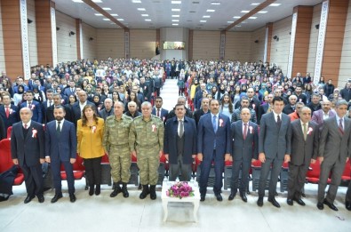
M 186 108 L 182 104 L 176 105 L 176 116 L 167 121 L 165 130 L 163 121 L 151 115 L 152 106 L 149 102 L 141 105 L 142 116 L 134 120 L 123 114 L 124 104 L 116 102 L 115 115 L 109 116 L 105 123 L 96 116 L 93 106 L 86 105 L 82 119 L 77 123 L 76 134 L 74 124 L 64 120 L 65 110 L 62 107 L 54 109 L 56 120 L 47 124 L 45 132 L 41 124 L 30 120 L 31 110 L 22 108 L 21 122 L 13 124 L 12 128 L 12 158 L 14 164 L 20 164 L 25 174 L 28 191 L 25 203 L 35 196 L 39 202 L 44 202 L 41 164 L 45 160 L 52 164 L 55 187 L 52 202 L 62 197 L 60 164 L 64 165 L 68 173 L 70 201 L 75 202 L 72 164 L 76 162 L 77 151 L 84 159 L 91 196 L 94 193 L 100 194 L 100 162 L 106 153 L 114 181 L 114 190 L 110 196 L 123 193 L 124 197 L 128 197 L 131 156 L 137 156 L 142 185 L 140 199 L 148 195 L 151 199 L 156 199 L 159 157 L 164 153 L 170 162 L 170 180 L 175 180 L 179 172 L 180 180 L 189 180 L 193 158 L 197 156 L 202 161 L 199 183 L 201 201 L 205 200 L 212 164 L 216 175 L 213 191 L 217 200 L 222 201 L 224 162 L 232 160 L 233 173 L 228 199 L 233 200 L 239 189 L 240 197 L 247 202 L 245 189 L 248 186 L 251 161 L 259 159 L 262 169 L 257 204 L 263 205 L 270 174 L 268 202 L 275 207 L 280 207 L 275 200 L 275 189 L 283 162 L 290 162 L 287 204 L 292 205 L 295 201 L 305 205 L 301 199 L 301 190 L 309 164 L 318 159 L 321 175 L 317 207 L 323 210 L 323 204 L 326 204 L 332 210 L 338 210 L 333 202 L 345 163 L 351 155 L 351 122 L 345 117 L 347 102 L 339 100 L 336 104 L 337 116 L 325 120 L 322 129 L 310 122 L 309 108 L 302 108 L 299 120 L 291 123 L 289 116 L 282 113 L 283 99 L 275 97 L 272 103 L 273 111 L 262 116 L 258 128 L 257 124 L 250 122 L 249 108 L 242 109 L 242 120 L 230 125 L 229 118 L 219 113 L 219 101 L 211 100 L 210 113 L 201 116 L 197 132 L 195 120 L 185 116 Z M 239 186 L 240 170 L 242 181 Z M 324 196 L 330 172 L 330 188 L 327 196 Z M 347 210 L 351 210 L 350 186 L 346 196 Z

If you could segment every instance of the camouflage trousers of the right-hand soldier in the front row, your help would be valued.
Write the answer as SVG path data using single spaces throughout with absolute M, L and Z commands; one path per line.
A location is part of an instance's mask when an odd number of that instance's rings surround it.
M 141 185 L 156 185 L 158 166 L 160 165 L 159 150 L 155 148 L 137 149 L 138 167 Z

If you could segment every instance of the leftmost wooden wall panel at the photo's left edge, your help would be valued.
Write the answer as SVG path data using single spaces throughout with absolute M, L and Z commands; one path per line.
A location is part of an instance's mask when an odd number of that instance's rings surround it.
M 1 1 L 1 15 L 6 73 L 13 81 L 17 76 L 23 76 L 20 1 Z

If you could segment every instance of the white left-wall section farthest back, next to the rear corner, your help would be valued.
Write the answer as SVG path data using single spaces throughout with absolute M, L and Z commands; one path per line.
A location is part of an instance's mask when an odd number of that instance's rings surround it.
M 90 39 L 92 38 L 92 40 Z M 83 56 L 82 59 L 93 60 L 97 58 L 97 29 L 92 26 L 82 22 L 82 40 L 83 40 Z

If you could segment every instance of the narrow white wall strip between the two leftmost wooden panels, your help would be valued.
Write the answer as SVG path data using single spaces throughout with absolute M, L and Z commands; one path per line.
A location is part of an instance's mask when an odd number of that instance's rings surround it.
M 29 45 L 29 62 L 30 66 L 38 64 L 38 52 L 36 43 L 36 4 L 35 0 L 27 1 L 27 17 L 33 20 L 28 24 L 28 45 Z

